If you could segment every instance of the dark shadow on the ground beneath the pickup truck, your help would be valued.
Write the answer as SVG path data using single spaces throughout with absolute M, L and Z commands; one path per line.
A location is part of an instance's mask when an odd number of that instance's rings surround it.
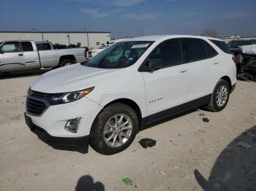
M 39 69 L 39 70 L 28 70 L 28 71 L 12 71 L 10 73 L 8 72 L 4 74 L 0 73 L 0 79 L 39 76 L 39 75 L 45 74 L 50 70 L 51 69 Z

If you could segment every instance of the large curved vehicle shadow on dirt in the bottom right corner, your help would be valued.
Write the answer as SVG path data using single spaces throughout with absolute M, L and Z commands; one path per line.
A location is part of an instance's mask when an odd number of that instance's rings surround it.
M 252 147 L 238 147 L 238 142 Z M 256 125 L 234 139 L 219 155 L 208 180 L 194 171 L 195 179 L 203 190 L 256 190 Z

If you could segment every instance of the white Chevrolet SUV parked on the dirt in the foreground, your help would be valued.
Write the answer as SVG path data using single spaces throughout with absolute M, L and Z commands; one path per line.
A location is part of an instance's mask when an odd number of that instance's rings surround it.
M 221 111 L 235 85 L 236 60 L 219 39 L 126 39 L 34 81 L 26 123 L 39 138 L 112 155 L 152 122 L 198 106 Z

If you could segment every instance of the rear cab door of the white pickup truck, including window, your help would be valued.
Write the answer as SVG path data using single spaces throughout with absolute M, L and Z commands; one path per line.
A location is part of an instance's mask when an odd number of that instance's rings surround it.
M 39 69 L 39 56 L 35 47 L 29 41 L 20 42 L 23 56 L 25 58 L 26 69 Z

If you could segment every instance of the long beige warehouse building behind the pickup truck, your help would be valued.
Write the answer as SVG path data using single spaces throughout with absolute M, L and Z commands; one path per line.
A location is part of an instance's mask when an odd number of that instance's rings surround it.
M 34 40 L 50 41 L 53 44 L 80 44 L 81 47 L 97 48 L 103 44 L 110 44 L 110 32 L 87 31 L 0 31 L 1 40 Z

